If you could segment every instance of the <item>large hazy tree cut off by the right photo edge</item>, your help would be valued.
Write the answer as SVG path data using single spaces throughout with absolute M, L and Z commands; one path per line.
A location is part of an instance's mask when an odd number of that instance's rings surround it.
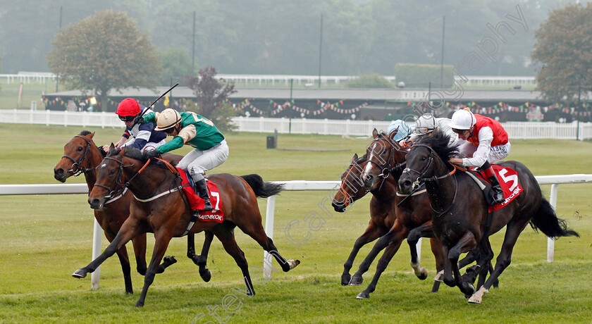
M 548 101 L 578 103 L 592 90 L 592 4 L 551 11 L 535 34 L 537 89 Z

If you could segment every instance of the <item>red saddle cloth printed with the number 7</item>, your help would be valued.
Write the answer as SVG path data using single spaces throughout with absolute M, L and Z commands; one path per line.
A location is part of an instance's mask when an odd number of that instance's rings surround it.
M 181 176 L 181 185 L 183 186 L 183 191 L 185 192 L 185 196 L 189 200 L 189 205 L 193 210 L 202 210 L 204 208 L 204 199 L 199 197 L 198 194 L 195 194 L 195 190 L 190 185 L 189 180 L 187 180 L 187 173 L 185 170 L 177 168 L 179 175 Z M 218 191 L 218 186 L 211 181 L 206 181 L 208 185 L 208 192 L 210 197 L 211 206 L 214 207 L 211 211 L 201 211 L 199 212 L 199 220 L 204 222 L 216 222 L 222 223 L 224 220 L 224 213 L 222 212 L 222 199 L 220 199 L 220 192 Z

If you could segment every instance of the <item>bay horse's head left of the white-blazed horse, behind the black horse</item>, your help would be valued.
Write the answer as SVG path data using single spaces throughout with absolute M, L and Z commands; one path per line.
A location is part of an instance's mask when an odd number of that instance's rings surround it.
M 347 206 L 366 194 L 366 188 L 362 182 L 364 166 L 366 166 L 366 156 L 358 158 L 357 154 L 354 154 L 350 166 L 341 175 L 341 187 L 333 197 L 331 205 L 335 211 L 339 213 L 345 211 Z

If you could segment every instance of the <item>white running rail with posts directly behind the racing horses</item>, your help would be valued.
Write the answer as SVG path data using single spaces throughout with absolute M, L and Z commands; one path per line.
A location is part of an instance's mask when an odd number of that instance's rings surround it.
M 536 176 L 539 185 L 551 185 L 549 202 L 553 208 L 557 208 L 557 189 L 562 183 L 585 183 L 592 182 L 592 174 L 576 174 L 576 175 L 539 175 Z M 333 190 L 340 186 L 339 181 L 306 181 L 306 180 L 292 180 L 292 181 L 277 181 L 275 183 L 282 183 L 285 185 L 285 190 L 288 191 L 302 191 L 302 190 Z M 20 194 L 88 194 L 88 187 L 85 183 L 80 184 L 51 184 L 51 185 L 0 185 L 1 195 L 20 195 Z M 329 196 L 333 196 L 330 192 Z M 328 197 L 331 198 L 331 197 Z M 276 196 L 267 199 L 267 208 L 265 216 L 265 232 L 267 236 L 273 238 L 273 220 L 275 218 Z M 101 254 L 101 240 L 103 233 L 97 220 L 94 220 L 93 238 L 92 238 L 92 259 L 94 260 Z M 555 241 L 547 239 L 547 262 L 553 262 L 555 258 Z M 417 243 L 418 261 L 421 258 L 421 239 Z M 264 258 L 268 254 L 265 252 Z M 271 273 L 271 263 L 264 262 L 264 273 L 269 275 Z M 91 275 L 92 289 L 99 288 L 100 267 Z

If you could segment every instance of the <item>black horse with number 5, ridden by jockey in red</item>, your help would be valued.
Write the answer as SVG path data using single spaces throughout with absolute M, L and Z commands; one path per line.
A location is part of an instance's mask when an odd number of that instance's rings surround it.
M 434 210 L 433 231 L 442 242 L 446 256 L 444 282 L 460 287 L 465 295 L 471 295 L 469 303 L 480 304 L 483 295 L 493 282 L 510 265 L 512 249 L 518 236 L 530 223 L 534 230 L 541 230 L 548 237 L 579 236 L 568 230 L 565 220 L 557 218 L 553 207 L 543 198 L 541 188 L 526 166 L 517 161 L 505 161 L 500 166 L 517 171 L 517 177 L 501 177 L 500 180 L 522 186 L 522 192 L 503 208 L 493 211 L 488 224 L 488 204 L 479 185 L 449 163 L 457 154 L 456 147 L 448 147 L 449 137 L 437 131 L 431 137 L 416 142 L 407 154 L 407 168 L 403 171 L 399 186 L 403 193 L 412 192 L 424 182 L 429 204 Z M 495 262 L 493 273 L 485 281 L 486 266 L 493 258 L 488 235 L 506 227 L 502 248 Z M 463 282 L 457 266 L 460 254 L 479 251 L 479 290 L 475 292 L 469 282 Z

